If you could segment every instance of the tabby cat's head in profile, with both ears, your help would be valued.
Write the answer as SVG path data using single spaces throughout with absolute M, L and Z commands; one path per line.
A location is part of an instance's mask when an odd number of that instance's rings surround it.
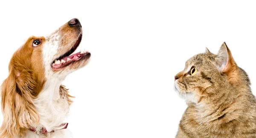
M 202 98 L 218 97 L 234 87 L 250 89 L 250 80 L 239 68 L 224 42 L 218 54 L 207 48 L 186 61 L 183 71 L 175 75 L 175 88 L 186 100 L 198 103 Z

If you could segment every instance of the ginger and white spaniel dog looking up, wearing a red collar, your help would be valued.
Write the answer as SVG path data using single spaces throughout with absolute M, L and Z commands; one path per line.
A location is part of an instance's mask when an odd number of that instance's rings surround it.
M 87 65 L 88 51 L 74 53 L 82 39 L 74 18 L 46 37 L 29 37 L 12 56 L 1 86 L 0 138 L 70 138 L 64 118 L 72 104 L 65 77 Z

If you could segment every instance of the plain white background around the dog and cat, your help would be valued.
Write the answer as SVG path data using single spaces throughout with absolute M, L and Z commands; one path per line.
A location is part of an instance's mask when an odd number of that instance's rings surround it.
M 75 138 L 174 138 L 186 103 L 174 76 L 191 56 L 226 41 L 256 94 L 255 3 L 178 0 L 0 2 L 0 82 L 31 35 L 72 18 L 90 64 L 63 82 L 76 96 L 68 117 Z M 0 122 L 2 116 L 0 115 Z

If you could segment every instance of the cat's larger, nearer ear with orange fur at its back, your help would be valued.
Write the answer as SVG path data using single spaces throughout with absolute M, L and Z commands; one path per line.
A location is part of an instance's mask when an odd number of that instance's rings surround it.
M 239 77 L 239 68 L 225 42 L 221 45 L 216 60 L 218 70 L 221 73 L 226 74 L 230 82 L 237 82 Z

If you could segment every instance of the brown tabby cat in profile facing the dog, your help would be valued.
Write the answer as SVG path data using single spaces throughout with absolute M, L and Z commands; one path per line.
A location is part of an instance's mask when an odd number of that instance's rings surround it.
M 176 138 L 256 138 L 256 100 L 247 73 L 224 42 L 218 54 L 193 56 L 175 76 L 188 107 Z

